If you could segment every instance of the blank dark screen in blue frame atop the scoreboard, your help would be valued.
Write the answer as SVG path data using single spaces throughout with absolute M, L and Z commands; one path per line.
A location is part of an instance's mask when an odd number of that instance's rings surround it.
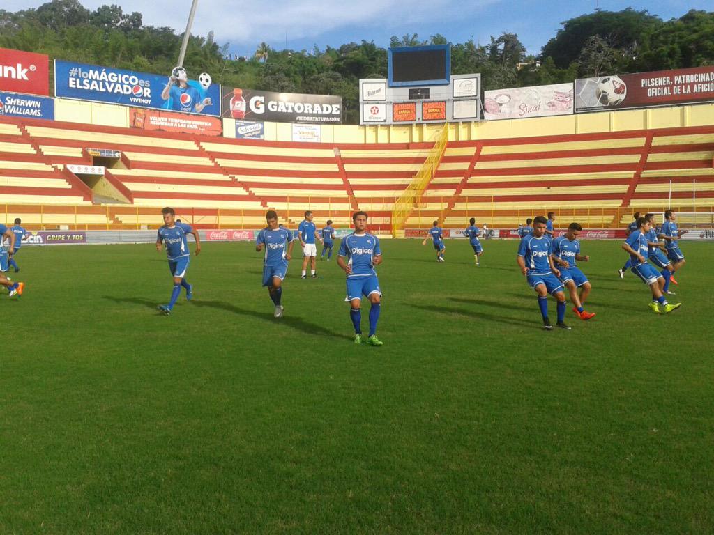
M 388 50 L 389 86 L 438 86 L 451 81 L 451 46 L 405 46 Z

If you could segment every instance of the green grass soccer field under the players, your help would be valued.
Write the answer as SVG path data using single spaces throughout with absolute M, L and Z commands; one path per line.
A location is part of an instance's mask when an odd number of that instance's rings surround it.
M 583 242 L 598 315 L 570 332 L 540 330 L 514 241 L 478 268 L 466 241 L 382 245 L 379 348 L 334 258 L 293 260 L 274 320 L 261 255 L 205 243 L 164 317 L 154 245 L 23 248 L 0 534 L 712 532 L 710 244 L 683 243 L 665 317 L 620 243 Z

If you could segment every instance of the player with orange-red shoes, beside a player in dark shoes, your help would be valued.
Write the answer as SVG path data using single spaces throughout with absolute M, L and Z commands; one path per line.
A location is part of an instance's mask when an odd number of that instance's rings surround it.
M 575 261 L 578 262 L 590 262 L 590 257 L 588 255 L 580 255 L 580 242 L 578 241 L 578 235 L 583 228 L 579 223 L 570 223 L 568 225 L 568 230 L 565 232 L 564 236 L 558 236 L 553 240 L 553 245 L 551 245 L 551 255 L 553 255 L 553 261 L 560 265 L 560 280 L 563 282 L 566 288 L 568 288 L 568 293 L 570 293 L 570 301 L 573 302 L 573 312 L 577 315 L 580 320 L 590 320 L 591 317 L 595 317 L 594 312 L 587 312 L 583 305 L 585 300 L 590 295 L 590 282 L 588 277 L 585 277 L 585 273 L 580 271 L 579 267 L 575 266 Z M 578 295 L 578 288 L 580 288 L 580 295 Z

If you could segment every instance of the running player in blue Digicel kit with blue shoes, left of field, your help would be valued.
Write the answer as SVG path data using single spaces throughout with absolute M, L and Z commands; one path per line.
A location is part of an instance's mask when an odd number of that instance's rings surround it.
M 181 295 L 181 287 L 186 289 L 186 299 L 193 298 L 193 286 L 186 281 L 186 270 L 188 262 L 191 260 L 191 251 L 188 250 L 188 235 L 193 234 L 196 240 L 196 256 L 201 253 L 201 240 L 198 238 L 198 230 L 191 228 L 186 223 L 176 223 L 176 212 L 174 208 L 161 209 L 164 215 L 164 225 L 156 233 L 156 250 L 161 250 L 161 242 L 166 244 L 166 256 L 169 258 L 169 270 L 174 277 L 174 290 L 171 291 L 171 300 L 168 305 L 159 305 L 159 310 L 165 315 L 170 315 L 174 310 L 176 300 Z

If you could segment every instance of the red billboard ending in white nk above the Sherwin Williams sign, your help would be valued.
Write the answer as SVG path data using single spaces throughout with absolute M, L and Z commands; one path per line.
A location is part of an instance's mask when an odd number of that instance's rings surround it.
M 49 95 L 49 58 L 46 54 L 0 49 L 0 91 Z

